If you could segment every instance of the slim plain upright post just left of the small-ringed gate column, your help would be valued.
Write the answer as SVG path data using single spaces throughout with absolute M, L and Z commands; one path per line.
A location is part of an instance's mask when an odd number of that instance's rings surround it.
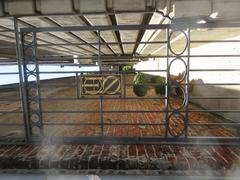
M 24 91 L 24 82 L 23 82 L 23 71 L 22 71 L 22 61 L 21 61 L 21 54 L 20 54 L 20 39 L 19 39 L 19 31 L 18 31 L 18 19 L 16 17 L 13 18 L 14 22 L 14 30 L 15 30 L 15 40 L 16 40 L 16 58 L 18 64 L 18 74 L 19 74 L 19 91 L 20 91 L 20 100 L 23 110 L 23 120 L 24 120 L 24 132 L 25 132 L 25 141 L 29 143 L 29 123 L 28 123 L 28 115 L 26 109 L 26 94 Z

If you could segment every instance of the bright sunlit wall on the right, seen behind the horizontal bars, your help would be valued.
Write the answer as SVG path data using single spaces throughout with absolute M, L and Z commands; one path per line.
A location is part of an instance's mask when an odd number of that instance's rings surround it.
M 240 39 L 235 37 L 234 39 Z M 191 49 L 191 55 L 226 55 L 240 54 L 239 43 L 209 43 Z M 150 59 L 136 65 L 136 69 L 166 69 L 166 59 Z M 191 58 L 190 69 L 240 69 L 239 57 L 214 57 L 214 58 Z M 176 65 L 172 70 L 174 75 L 181 72 Z M 166 76 L 164 72 L 150 72 L 150 74 Z M 191 72 L 190 81 L 193 83 L 191 96 L 238 96 L 240 97 L 240 71 L 204 71 Z M 211 83 L 238 83 L 239 85 L 205 85 Z M 200 85 L 197 85 L 200 84 Z M 206 109 L 212 110 L 240 110 L 240 99 L 202 99 L 191 100 Z M 219 113 L 227 119 L 240 122 L 240 113 Z

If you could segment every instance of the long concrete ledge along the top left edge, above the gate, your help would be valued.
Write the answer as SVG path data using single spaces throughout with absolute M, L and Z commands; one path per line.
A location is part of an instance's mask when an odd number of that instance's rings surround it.
M 145 11 L 146 9 L 163 9 L 165 0 L 3 0 L 0 3 L 0 16 L 35 14 L 76 14 L 105 13 L 111 11 Z

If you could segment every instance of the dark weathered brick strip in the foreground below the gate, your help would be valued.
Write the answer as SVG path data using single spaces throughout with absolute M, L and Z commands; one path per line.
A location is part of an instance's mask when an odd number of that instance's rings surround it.
M 0 169 L 236 170 L 240 147 L 1 145 Z

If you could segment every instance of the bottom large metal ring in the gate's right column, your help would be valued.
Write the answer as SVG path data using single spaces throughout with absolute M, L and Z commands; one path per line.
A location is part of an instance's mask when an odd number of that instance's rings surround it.
M 177 117 L 179 116 L 179 117 Z M 168 117 L 168 132 L 172 137 L 180 137 L 185 132 L 185 117 L 178 112 L 173 112 Z

